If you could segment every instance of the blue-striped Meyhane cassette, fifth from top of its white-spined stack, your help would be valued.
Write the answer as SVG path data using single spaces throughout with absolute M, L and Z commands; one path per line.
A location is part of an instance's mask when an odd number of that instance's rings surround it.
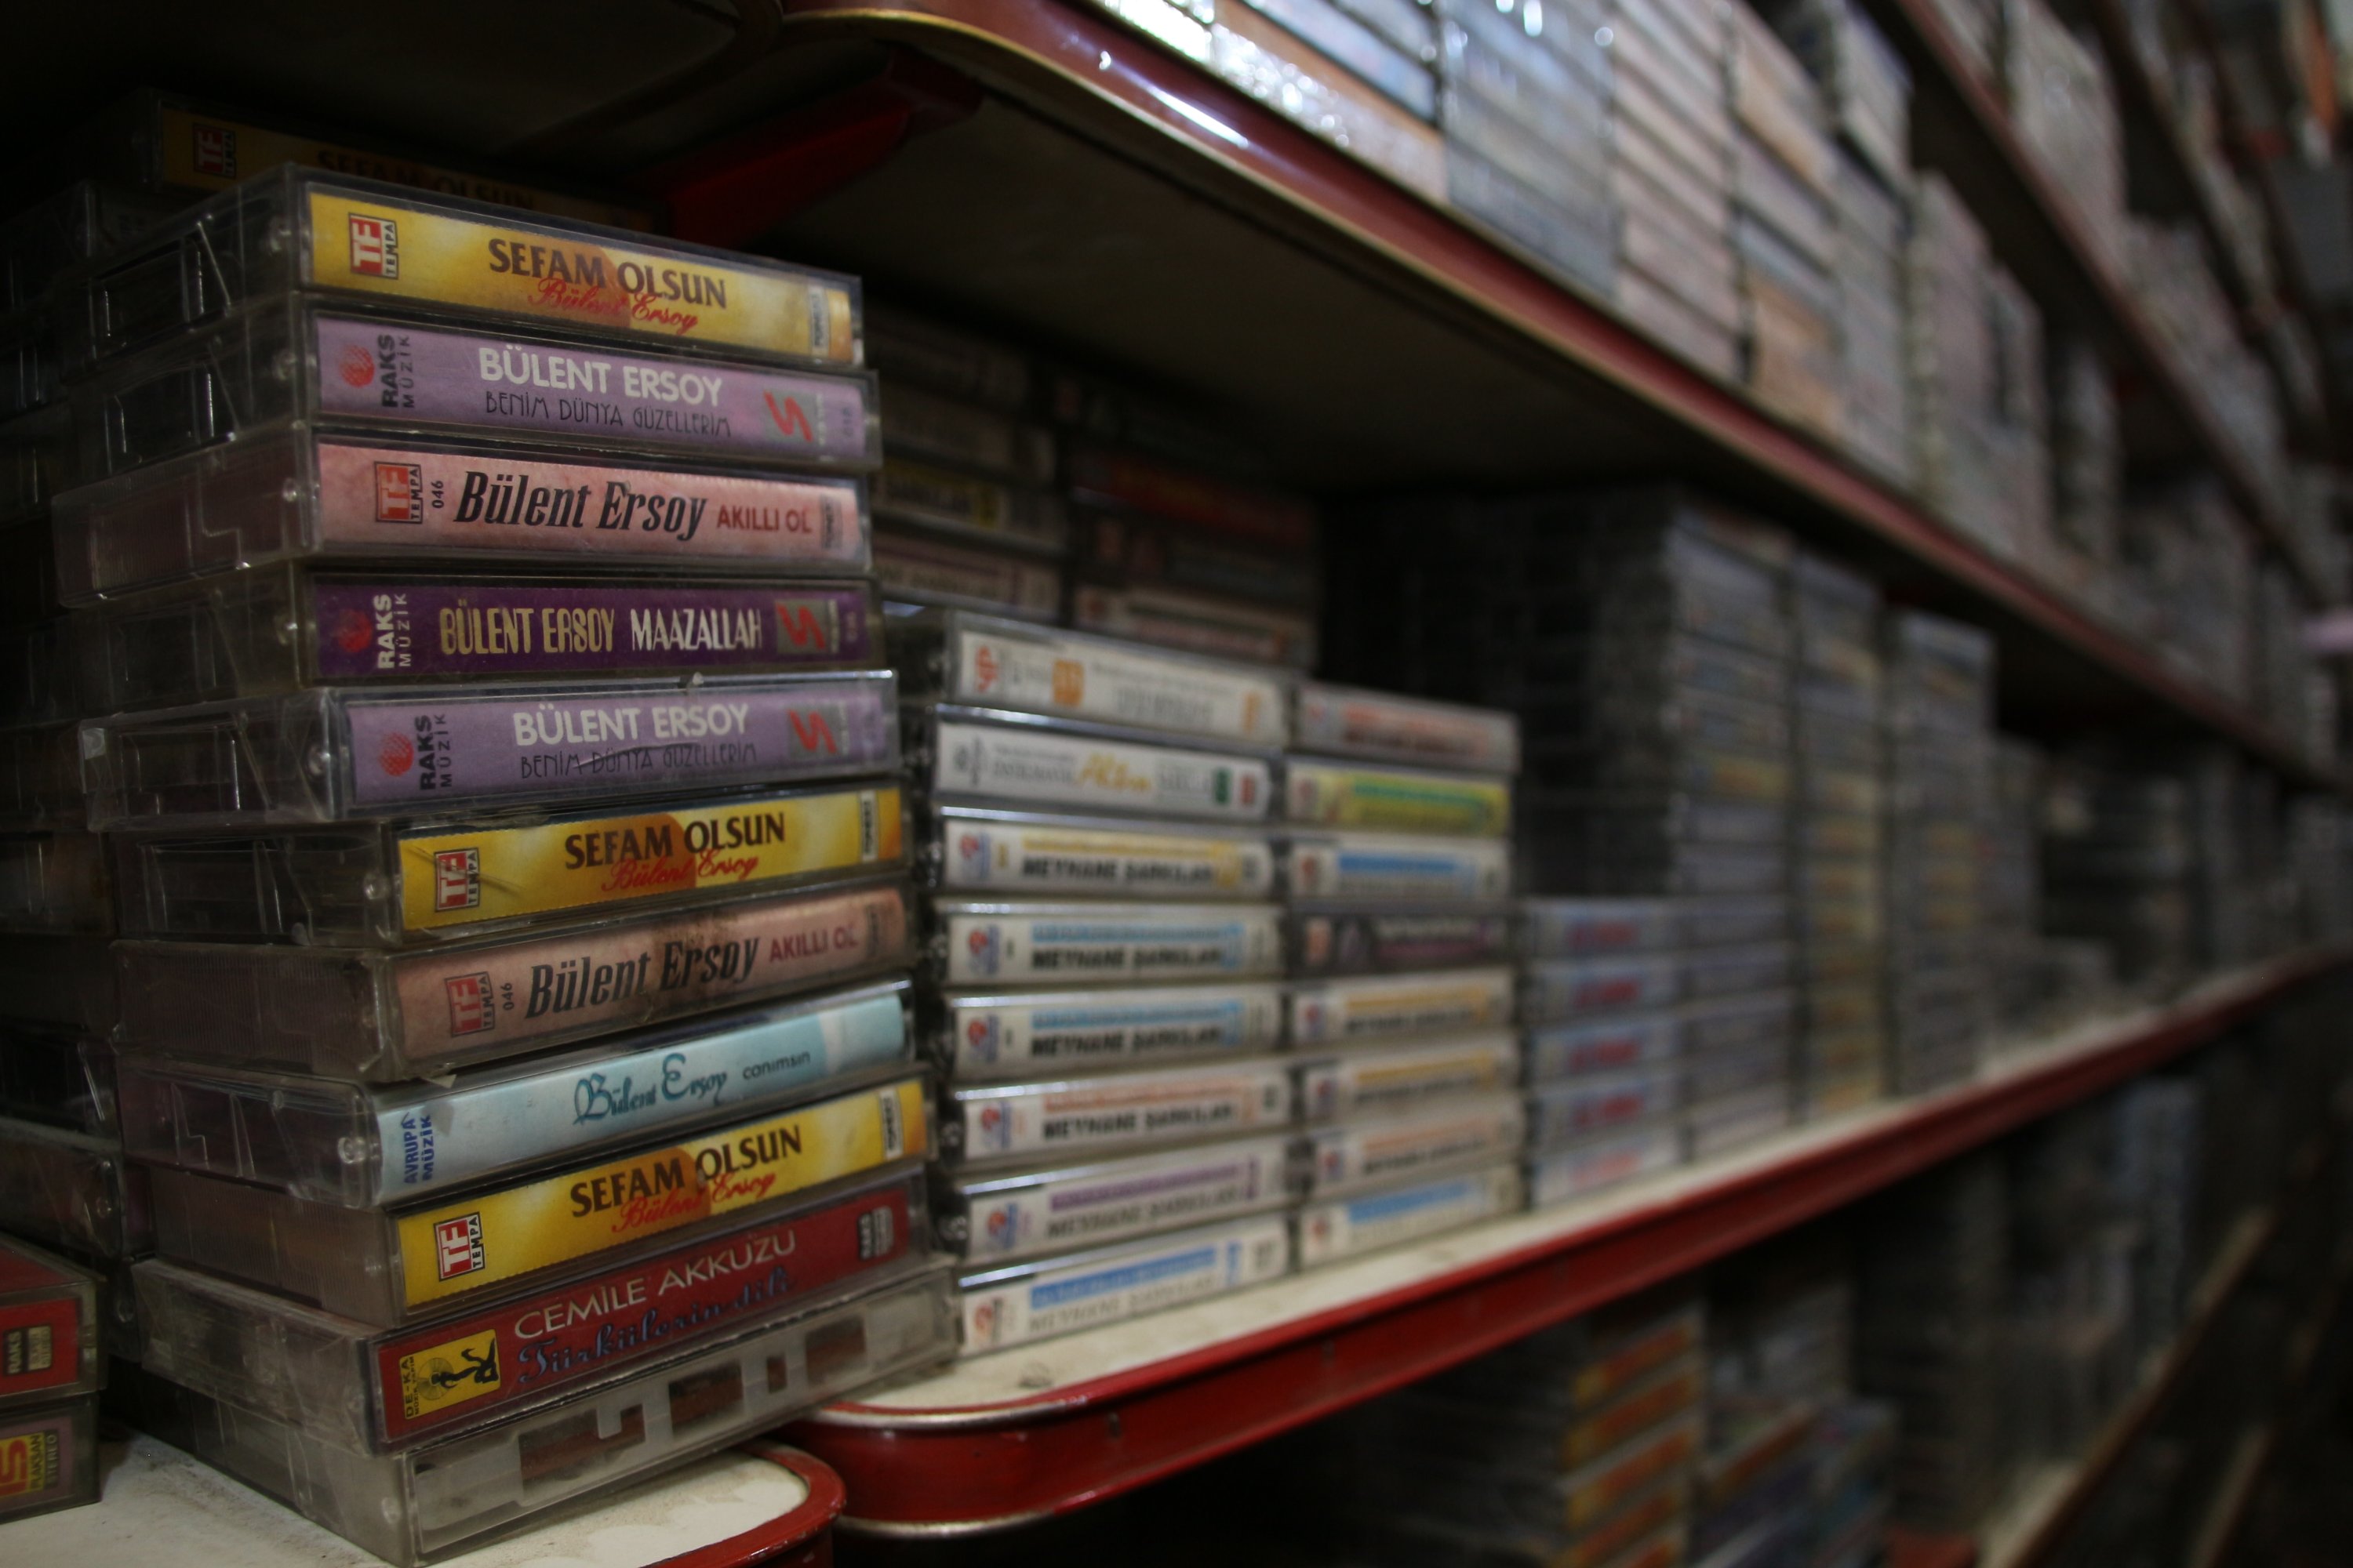
M 1249 1056 L 1280 1041 L 1282 987 L 1271 980 L 953 994 L 939 999 L 932 1032 L 934 1053 L 958 1081 Z

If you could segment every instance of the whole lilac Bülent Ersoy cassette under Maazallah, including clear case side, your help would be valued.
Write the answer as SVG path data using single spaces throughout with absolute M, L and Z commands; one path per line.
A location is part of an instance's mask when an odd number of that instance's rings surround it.
M 889 670 L 595 686 L 320 686 L 82 726 L 94 827 L 336 823 L 896 766 Z

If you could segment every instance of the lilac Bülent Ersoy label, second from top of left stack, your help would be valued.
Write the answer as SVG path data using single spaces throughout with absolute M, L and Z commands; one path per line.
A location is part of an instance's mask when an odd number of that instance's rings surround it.
M 322 414 L 595 435 L 772 458 L 871 456 L 866 383 L 720 360 L 318 317 Z

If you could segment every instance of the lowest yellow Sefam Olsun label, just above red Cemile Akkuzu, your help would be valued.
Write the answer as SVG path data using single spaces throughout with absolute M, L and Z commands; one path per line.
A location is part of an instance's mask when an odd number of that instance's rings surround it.
M 449 1300 L 925 1152 L 922 1079 L 861 1088 L 405 1213 L 402 1293 L 409 1307 Z

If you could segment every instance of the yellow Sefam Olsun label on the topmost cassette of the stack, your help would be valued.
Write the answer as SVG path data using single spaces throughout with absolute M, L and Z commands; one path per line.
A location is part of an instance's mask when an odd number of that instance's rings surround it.
M 856 357 L 838 284 L 339 190 L 311 193 L 311 280 L 647 339 Z

